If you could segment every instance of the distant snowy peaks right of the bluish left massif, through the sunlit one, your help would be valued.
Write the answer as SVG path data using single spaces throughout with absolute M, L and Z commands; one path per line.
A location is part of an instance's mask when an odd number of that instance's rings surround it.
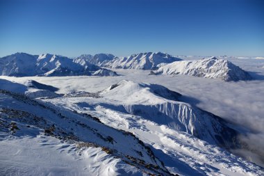
M 100 57 L 97 55 L 100 55 Z M 197 61 L 183 61 L 181 58 L 161 52 L 133 54 L 122 58 L 111 54 L 97 55 L 94 57 L 82 55 L 78 59 L 109 68 L 157 70 L 156 72 L 151 72 L 151 74 L 188 74 L 195 77 L 222 79 L 224 81 L 245 81 L 251 79 L 247 72 L 223 58 L 210 57 Z

